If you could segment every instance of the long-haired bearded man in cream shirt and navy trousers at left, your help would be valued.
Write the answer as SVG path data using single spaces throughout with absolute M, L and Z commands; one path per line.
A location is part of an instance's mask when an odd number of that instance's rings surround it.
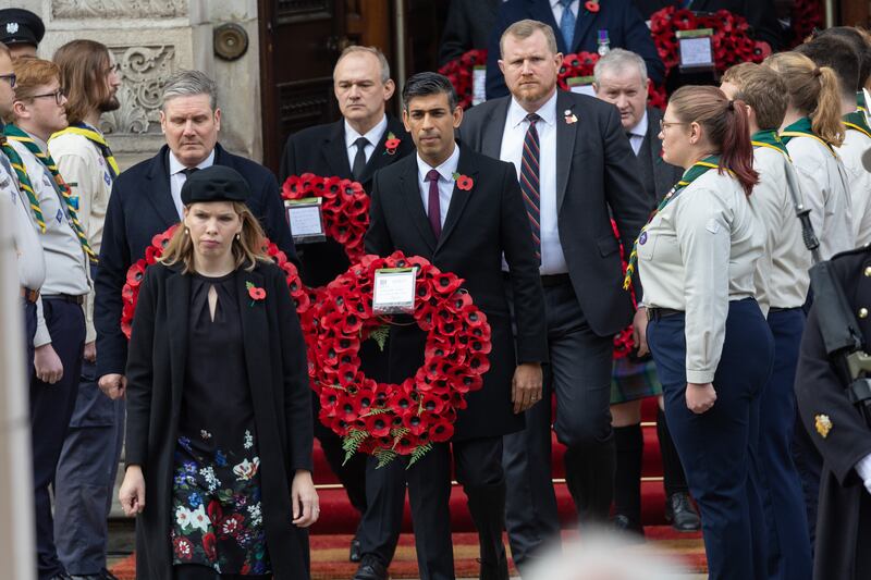
M 66 88 L 66 121 L 48 148 L 78 198 L 78 219 L 95 252 L 100 250 L 106 208 L 118 176 L 100 115 L 119 108 L 118 65 L 94 40 L 73 40 L 54 52 Z M 96 81 L 96 82 L 95 82 Z M 91 280 L 97 264 L 90 266 Z M 108 517 L 124 431 L 124 399 L 111 399 L 97 384 L 94 291 L 85 300 L 85 350 L 70 429 L 54 481 L 58 557 L 76 580 L 112 579 L 106 569 Z

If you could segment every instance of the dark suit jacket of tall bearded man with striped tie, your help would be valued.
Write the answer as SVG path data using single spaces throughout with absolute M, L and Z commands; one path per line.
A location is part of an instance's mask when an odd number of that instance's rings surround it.
M 459 127 L 462 141 L 499 159 L 510 97 L 469 109 Z M 566 123 L 572 111 L 575 123 Z M 619 229 L 628 257 L 647 221 L 650 200 L 645 194 L 638 160 L 619 122 L 616 107 L 586 95 L 560 91 L 556 97 L 556 208 L 560 244 L 572 285 L 592 330 L 616 334 L 631 320 L 631 296 L 623 288 Z M 516 180 L 515 174 L 515 180 Z M 635 276 L 638 284 L 638 276 Z M 636 296 L 641 296 L 636 286 Z

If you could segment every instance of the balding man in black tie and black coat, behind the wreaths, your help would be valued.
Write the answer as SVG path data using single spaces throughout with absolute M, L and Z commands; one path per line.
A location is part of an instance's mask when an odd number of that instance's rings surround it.
M 348 47 L 339 57 L 333 69 L 333 89 L 342 119 L 334 123 L 316 125 L 291 135 L 281 159 L 281 180 L 290 175 L 314 173 L 324 177 L 339 176 L 360 182 L 366 192 L 372 187 L 372 175 L 381 168 L 402 159 L 415 150 L 412 137 L 402 122 L 387 114 L 384 104 L 395 89 L 390 78 L 390 64 L 384 54 L 372 47 Z M 398 139 L 397 147 L 385 147 L 388 139 Z M 391 144 L 393 145 L 393 144 Z M 342 246 L 332 240 L 300 244 L 298 249 L 303 267 L 300 277 L 306 285 L 318 287 L 329 284 L 347 270 L 351 263 Z M 369 377 L 384 381 L 387 357 L 381 355 L 371 341 L 361 346 L 364 370 Z M 393 558 L 393 548 L 400 535 L 400 527 L 384 526 L 391 518 L 380 517 L 382 507 L 377 505 L 367 517 L 370 503 L 383 499 L 384 486 L 378 483 L 381 470 L 373 473 L 371 499 L 367 499 L 366 458 L 354 455 L 345 461 L 342 440 L 318 419 L 320 400 L 311 398 L 315 411 L 315 436 L 347 492 L 351 504 L 360 513 L 360 523 L 351 542 L 351 560 L 359 562 L 363 551 L 379 554 L 381 560 Z M 405 497 L 405 490 L 395 493 Z M 393 505 L 393 502 L 390 503 Z M 402 509 L 402 506 L 400 507 Z M 364 566 L 361 566 L 364 567 Z M 365 570 L 360 570 L 365 572 Z

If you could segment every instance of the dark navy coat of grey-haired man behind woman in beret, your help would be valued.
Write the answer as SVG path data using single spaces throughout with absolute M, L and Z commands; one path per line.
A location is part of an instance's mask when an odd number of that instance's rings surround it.
M 100 267 L 94 286 L 94 324 L 97 329 L 97 377 L 124 372 L 127 361 L 127 338 L 121 332 L 121 291 L 127 269 L 151 245 L 151 238 L 179 223 L 172 200 L 169 174 L 169 147 L 118 176 L 112 185 L 100 247 Z M 287 259 L 298 266 L 291 230 L 284 215 L 275 176 L 268 169 L 248 159 L 234 156 L 220 145 L 214 146 L 214 163 L 238 171 L 250 186 L 246 205 L 260 221 L 266 235 Z

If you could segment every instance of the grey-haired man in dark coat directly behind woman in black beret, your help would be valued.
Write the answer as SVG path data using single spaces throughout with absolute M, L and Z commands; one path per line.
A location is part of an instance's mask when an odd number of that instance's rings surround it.
M 115 178 L 106 211 L 94 322 L 100 354 L 97 377 L 100 388 L 112 398 L 124 396 L 126 386 L 127 338 L 121 331 L 121 291 L 127 269 L 145 257 L 155 235 L 179 223 L 182 184 L 191 173 L 213 164 L 238 171 L 252 190 L 246 205 L 269 239 L 298 266 L 275 176 L 218 143 L 221 110 L 214 82 L 199 71 L 181 71 L 167 81 L 162 99 L 160 126 L 167 145 Z

